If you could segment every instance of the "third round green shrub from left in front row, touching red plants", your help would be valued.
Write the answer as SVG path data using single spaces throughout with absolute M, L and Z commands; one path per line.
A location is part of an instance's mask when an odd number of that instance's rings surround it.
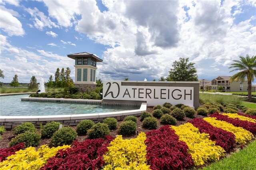
M 110 130 L 106 123 L 96 123 L 87 131 L 87 134 L 91 139 L 104 138 L 106 135 L 110 134 Z

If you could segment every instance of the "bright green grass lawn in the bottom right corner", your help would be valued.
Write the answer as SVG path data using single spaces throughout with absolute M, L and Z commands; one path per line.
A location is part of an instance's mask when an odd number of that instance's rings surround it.
M 255 170 L 256 168 L 256 140 L 244 149 L 231 154 L 229 158 L 224 158 L 203 170 Z

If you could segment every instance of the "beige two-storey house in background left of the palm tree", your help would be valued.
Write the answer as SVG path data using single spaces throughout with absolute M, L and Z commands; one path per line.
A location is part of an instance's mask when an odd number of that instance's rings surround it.
M 233 81 L 230 83 L 231 76 L 218 76 L 211 81 L 212 90 L 218 89 L 219 86 L 224 87 L 226 92 L 248 92 L 248 81 Z M 252 92 L 256 91 L 256 86 L 252 85 Z

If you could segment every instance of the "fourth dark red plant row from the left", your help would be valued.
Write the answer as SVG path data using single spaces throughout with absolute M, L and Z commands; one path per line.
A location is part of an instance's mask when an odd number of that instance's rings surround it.
M 236 138 L 232 132 L 213 127 L 210 123 L 199 118 L 188 121 L 188 123 L 197 127 L 200 133 L 208 133 L 210 135 L 210 140 L 215 141 L 216 145 L 224 148 L 226 152 L 229 152 L 232 148 L 236 147 Z

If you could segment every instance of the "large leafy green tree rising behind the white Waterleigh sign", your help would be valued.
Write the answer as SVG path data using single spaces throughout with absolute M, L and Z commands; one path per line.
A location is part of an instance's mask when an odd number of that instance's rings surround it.
M 180 61 L 174 61 L 167 81 L 198 81 L 195 63 L 188 61 L 188 58 L 181 58 Z

